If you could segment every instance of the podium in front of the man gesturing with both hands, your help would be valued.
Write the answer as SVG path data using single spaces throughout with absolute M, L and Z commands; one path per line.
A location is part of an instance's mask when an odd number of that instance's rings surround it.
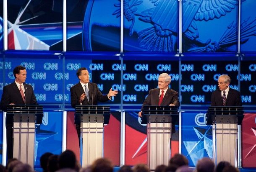
M 82 167 L 103 157 L 104 124 L 110 119 L 110 106 L 77 105 L 75 123 L 80 123 L 81 139 L 80 154 Z

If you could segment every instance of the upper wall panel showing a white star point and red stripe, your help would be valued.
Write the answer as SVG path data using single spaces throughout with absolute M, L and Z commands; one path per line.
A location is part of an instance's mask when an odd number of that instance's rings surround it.
M 63 50 L 63 1 L 8 0 L 8 49 Z

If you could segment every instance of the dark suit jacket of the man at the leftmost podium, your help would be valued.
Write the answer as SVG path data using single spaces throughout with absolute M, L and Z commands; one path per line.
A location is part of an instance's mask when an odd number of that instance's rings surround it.
M 31 85 L 24 84 L 25 88 L 25 102 L 21 97 L 20 90 L 18 89 L 15 82 L 6 85 L 3 87 L 3 95 L 1 98 L 0 109 L 6 112 L 6 106 L 10 103 L 14 103 L 15 105 L 37 105 L 37 99 L 34 95 L 34 91 Z M 10 124 L 13 122 L 12 116 L 6 116 L 6 124 Z

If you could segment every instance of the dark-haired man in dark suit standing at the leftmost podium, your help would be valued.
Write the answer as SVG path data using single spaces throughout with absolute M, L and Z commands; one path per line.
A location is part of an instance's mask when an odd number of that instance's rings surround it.
M 17 66 L 13 69 L 15 81 L 3 87 L 0 109 L 7 110 L 7 105 L 37 105 L 37 99 L 31 85 L 25 84 L 26 67 Z M 13 116 L 6 116 L 7 158 L 13 157 Z

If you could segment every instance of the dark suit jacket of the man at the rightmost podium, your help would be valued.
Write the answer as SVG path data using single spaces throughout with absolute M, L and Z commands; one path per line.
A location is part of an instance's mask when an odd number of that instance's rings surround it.
M 221 90 L 217 89 L 212 92 L 211 106 L 222 106 Z M 242 100 L 240 92 L 229 88 L 226 106 L 242 106 Z

